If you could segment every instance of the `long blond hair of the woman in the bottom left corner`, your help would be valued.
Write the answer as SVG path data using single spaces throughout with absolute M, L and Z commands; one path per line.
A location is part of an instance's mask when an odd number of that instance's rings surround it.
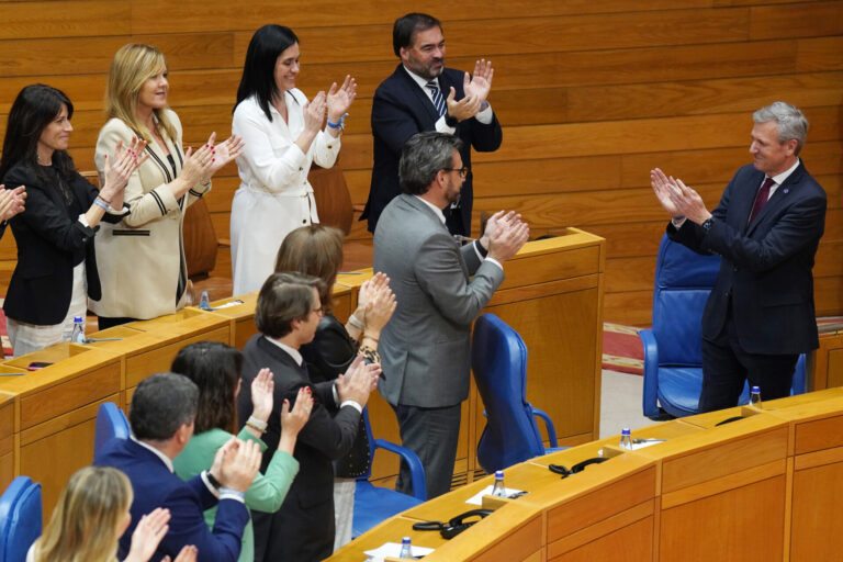
M 35 541 L 35 562 L 113 562 L 120 539 L 117 526 L 132 499 L 132 484 L 117 469 L 86 467 L 77 471 Z

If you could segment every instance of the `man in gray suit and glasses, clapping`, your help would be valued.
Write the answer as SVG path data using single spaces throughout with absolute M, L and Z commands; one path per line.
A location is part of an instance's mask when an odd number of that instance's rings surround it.
M 442 209 L 459 199 L 469 171 L 461 145 L 437 132 L 407 140 L 398 168 L 404 193 L 374 231 L 374 270 L 390 277 L 397 300 L 381 333 L 380 392 L 395 411 L 404 447 L 422 459 L 428 497 L 450 490 L 460 403 L 469 396 L 471 323 L 504 280 L 502 263 L 529 235 L 519 215 L 502 211 L 481 239 L 454 241 Z M 400 492 L 411 488 L 408 472 L 402 463 Z

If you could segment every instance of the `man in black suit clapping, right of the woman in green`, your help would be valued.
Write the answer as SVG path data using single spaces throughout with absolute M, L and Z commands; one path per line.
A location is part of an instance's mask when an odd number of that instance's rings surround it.
M 281 437 L 283 401 L 295 403 L 301 387 L 313 394 L 314 406 L 299 434 L 293 457 L 299 475 L 274 514 L 255 513 L 255 560 L 323 560 L 334 549 L 334 467 L 357 437 L 369 393 L 378 383 L 380 368 L 351 363 L 336 381 L 312 384 L 299 349 L 313 340 L 322 318 L 322 281 L 295 273 L 273 273 L 258 295 L 255 324 L 260 334 L 243 350 L 243 384 L 237 402 L 240 425 L 251 415 L 251 381 L 269 368 L 274 380 L 274 405 L 263 441 L 266 471 Z

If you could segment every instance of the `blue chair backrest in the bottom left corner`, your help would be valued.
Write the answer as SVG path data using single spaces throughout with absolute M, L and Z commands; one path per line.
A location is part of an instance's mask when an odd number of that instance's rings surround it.
M 41 484 L 18 476 L 0 496 L 0 561 L 24 562 L 41 536 Z

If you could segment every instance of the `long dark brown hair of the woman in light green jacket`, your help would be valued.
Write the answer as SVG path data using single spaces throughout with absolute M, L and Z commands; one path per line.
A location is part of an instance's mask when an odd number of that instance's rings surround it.
M 181 348 L 170 370 L 199 386 L 199 407 L 193 431 L 231 429 L 234 423 L 237 381 L 243 353 L 220 341 L 199 341 Z

